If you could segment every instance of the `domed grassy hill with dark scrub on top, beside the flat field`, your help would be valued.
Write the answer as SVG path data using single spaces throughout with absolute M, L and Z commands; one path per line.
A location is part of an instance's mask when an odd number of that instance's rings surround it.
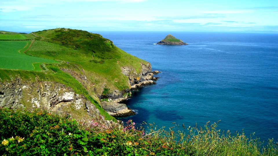
M 110 90 L 123 90 L 129 87 L 128 78 L 121 72 L 121 67 L 129 66 L 140 73 L 140 63 L 147 62 L 127 54 L 112 41 L 100 34 L 82 30 L 57 28 L 33 32 L 39 36 L 26 52 L 31 56 L 70 62 L 60 67 L 76 72 L 84 69 L 86 77 L 94 84 L 96 92 L 103 91 L 103 84 Z

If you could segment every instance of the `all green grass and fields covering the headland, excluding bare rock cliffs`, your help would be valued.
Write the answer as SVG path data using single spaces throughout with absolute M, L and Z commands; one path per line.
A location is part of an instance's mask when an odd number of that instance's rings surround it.
M 122 74 L 121 67 L 130 67 L 140 73 L 141 64 L 147 64 L 123 52 L 101 35 L 82 30 L 57 28 L 31 34 L 1 32 L 0 38 L 3 39 L 0 41 L 1 82 L 19 77 L 25 82 L 64 84 L 92 102 L 106 120 L 116 121 L 100 107 L 97 95 L 102 95 L 104 89 L 111 93 L 129 88 L 129 79 Z M 32 41 L 19 41 L 26 39 Z M 85 76 L 86 84 L 61 69 Z

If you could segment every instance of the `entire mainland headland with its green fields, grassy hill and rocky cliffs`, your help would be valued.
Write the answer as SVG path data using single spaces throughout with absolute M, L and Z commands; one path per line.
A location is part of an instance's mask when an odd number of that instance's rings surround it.
M 7 63 L 0 63 L 1 107 L 41 108 L 87 119 L 101 114 L 105 120 L 116 121 L 109 114 L 131 113 L 117 102 L 129 98 L 131 88 L 153 83 L 148 62 L 127 54 L 100 34 L 57 28 L 0 34 L 0 38 L 5 38 L 0 60 Z M 9 50 L 10 44 L 17 48 Z M 19 56 L 29 62 L 12 63 Z M 25 68 L 27 64 L 34 67 Z M 106 101 L 109 114 L 101 101 Z

